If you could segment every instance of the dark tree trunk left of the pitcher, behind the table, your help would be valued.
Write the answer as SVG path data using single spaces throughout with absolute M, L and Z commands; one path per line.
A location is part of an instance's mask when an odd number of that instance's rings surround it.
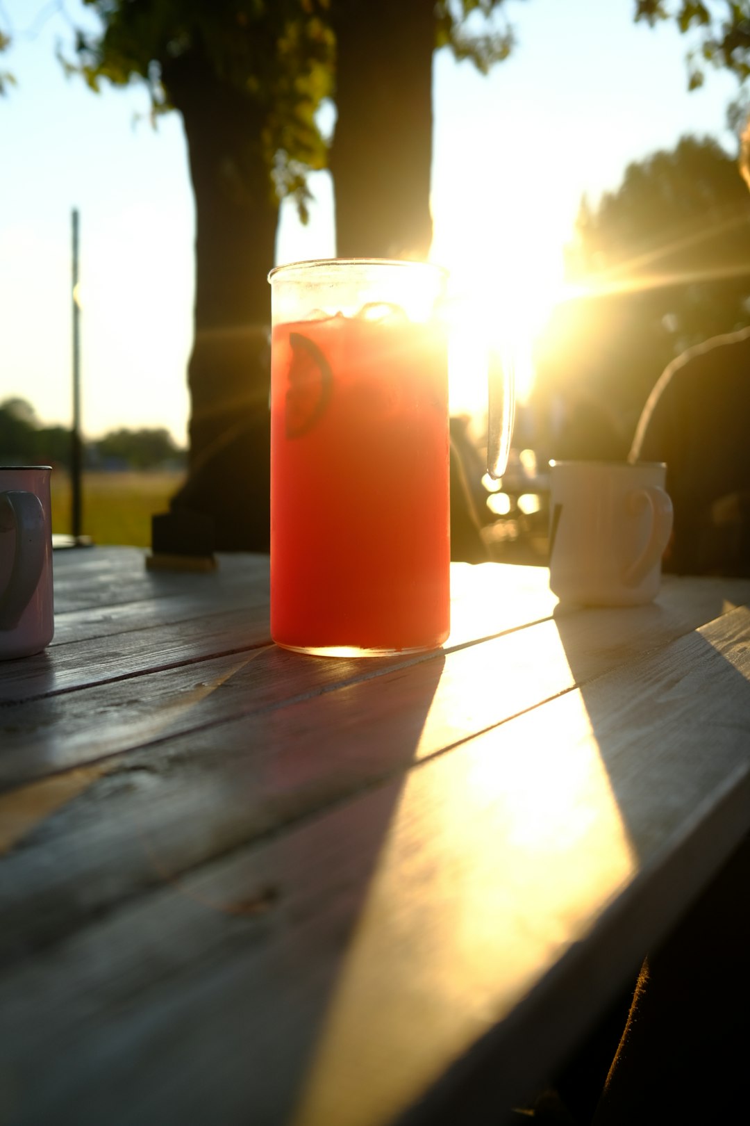
M 199 48 L 163 68 L 182 116 L 196 199 L 188 480 L 172 500 L 214 520 L 214 546 L 269 549 L 270 288 L 278 203 L 261 153 L 263 109 L 216 78 Z

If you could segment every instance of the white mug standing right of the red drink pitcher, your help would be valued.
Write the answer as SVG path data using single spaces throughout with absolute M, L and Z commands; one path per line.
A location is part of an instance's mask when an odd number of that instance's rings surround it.
M 663 462 L 550 462 L 550 588 L 582 606 L 656 598 L 672 527 Z

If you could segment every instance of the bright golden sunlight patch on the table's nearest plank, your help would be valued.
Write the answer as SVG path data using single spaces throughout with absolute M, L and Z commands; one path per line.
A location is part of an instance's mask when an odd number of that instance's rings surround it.
M 560 677 L 562 645 L 549 656 Z M 578 692 L 412 770 L 293 1126 L 396 1117 L 590 929 L 633 868 Z

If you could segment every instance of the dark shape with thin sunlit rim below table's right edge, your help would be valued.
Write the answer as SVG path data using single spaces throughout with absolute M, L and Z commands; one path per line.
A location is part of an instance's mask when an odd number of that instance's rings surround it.
M 749 879 L 746 837 L 643 964 L 596 1126 L 747 1118 Z

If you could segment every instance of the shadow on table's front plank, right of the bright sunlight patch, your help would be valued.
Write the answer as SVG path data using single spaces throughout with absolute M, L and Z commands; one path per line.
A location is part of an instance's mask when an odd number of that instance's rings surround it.
M 726 597 L 721 581 L 714 583 L 707 625 L 699 629 L 683 624 L 666 598 L 635 608 L 554 613 L 606 771 L 612 813 L 636 870 L 659 865 L 688 811 L 704 803 L 717 805 L 721 835 L 720 822 L 729 816 L 719 810 L 721 790 L 747 769 L 750 609 L 732 600 L 731 580 Z M 609 650 L 617 654 L 612 674 Z M 725 828 L 731 839 L 734 830 Z M 706 873 L 717 863 L 707 858 Z

